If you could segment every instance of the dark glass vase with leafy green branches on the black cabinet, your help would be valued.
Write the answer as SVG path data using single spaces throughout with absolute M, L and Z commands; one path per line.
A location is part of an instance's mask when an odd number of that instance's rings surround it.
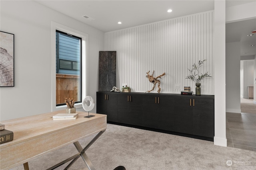
M 205 77 L 212 77 L 210 76 L 210 74 L 208 74 L 208 72 L 202 74 L 200 72 L 200 67 L 204 64 L 204 62 L 206 61 L 206 59 L 204 59 L 203 61 L 199 61 L 198 65 L 196 65 L 196 63 L 194 63 L 192 65 L 192 69 L 188 69 L 189 71 L 189 75 L 186 76 L 186 79 L 190 79 L 193 80 L 196 83 L 196 95 L 200 96 L 201 95 L 201 80 L 203 80 Z

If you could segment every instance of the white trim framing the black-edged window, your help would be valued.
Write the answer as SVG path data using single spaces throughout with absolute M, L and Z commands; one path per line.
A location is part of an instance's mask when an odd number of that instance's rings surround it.
M 66 106 L 56 106 L 56 29 L 82 38 L 82 99 L 88 93 L 88 34 L 65 25 L 52 21 L 51 25 L 51 64 L 52 64 L 52 111 L 62 110 Z M 86 68 L 86 69 L 83 69 Z M 76 108 L 82 107 L 82 102 L 75 104 Z

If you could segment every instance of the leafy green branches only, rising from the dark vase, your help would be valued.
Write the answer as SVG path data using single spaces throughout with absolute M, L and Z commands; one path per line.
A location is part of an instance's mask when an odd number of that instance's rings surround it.
M 193 80 L 195 83 L 200 83 L 201 80 L 203 80 L 203 78 L 205 77 L 212 77 L 210 76 L 210 74 L 208 74 L 208 72 L 202 74 L 200 73 L 200 67 L 204 64 L 204 61 L 206 61 L 206 59 L 204 59 L 203 61 L 199 61 L 198 65 L 196 65 L 196 63 L 194 63 L 192 65 L 192 69 L 188 69 L 189 71 L 189 75 L 186 76 L 186 79 L 190 79 Z

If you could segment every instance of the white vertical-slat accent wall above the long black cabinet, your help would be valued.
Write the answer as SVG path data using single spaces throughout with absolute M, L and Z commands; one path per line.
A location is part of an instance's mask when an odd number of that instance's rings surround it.
M 155 70 L 154 76 L 166 72 L 161 93 L 180 93 L 184 86 L 195 92 L 195 83 L 185 79 L 187 68 L 207 59 L 202 72 L 213 78 L 201 81 L 201 94 L 214 94 L 213 22 L 209 11 L 105 33 L 105 50 L 117 53 L 118 88 L 126 83 L 132 92 L 150 90 L 146 72 Z

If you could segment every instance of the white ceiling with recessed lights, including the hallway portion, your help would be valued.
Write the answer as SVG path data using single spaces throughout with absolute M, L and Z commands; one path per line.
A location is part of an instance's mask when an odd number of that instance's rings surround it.
M 103 32 L 214 10 L 214 0 L 35 0 Z M 227 0 L 226 7 L 256 0 Z M 167 10 L 172 9 L 168 13 Z M 89 16 L 88 20 L 83 16 Z M 122 24 L 118 24 L 121 21 Z M 256 19 L 226 24 L 226 42 L 241 41 L 241 55 L 256 55 Z M 243 42 L 243 43 L 242 43 Z M 251 45 L 251 44 L 250 44 Z M 246 54 L 243 54 L 246 53 Z

